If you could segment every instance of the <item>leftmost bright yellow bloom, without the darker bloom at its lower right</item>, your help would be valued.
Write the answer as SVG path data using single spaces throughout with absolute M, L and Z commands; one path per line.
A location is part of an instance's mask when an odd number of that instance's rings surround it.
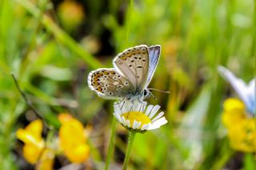
M 19 128 L 16 136 L 24 142 L 23 156 L 30 163 L 35 164 L 45 147 L 42 139 L 42 121 L 32 121 L 25 129 Z

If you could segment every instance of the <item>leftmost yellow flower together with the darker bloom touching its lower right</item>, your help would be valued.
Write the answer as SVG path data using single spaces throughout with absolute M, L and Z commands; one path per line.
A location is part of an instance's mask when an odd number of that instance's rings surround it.
M 54 151 L 46 148 L 42 139 L 42 121 L 32 121 L 26 128 L 16 132 L 19 140 L 24 142 L 23 156 L 30 164 L 36 164 L 38 170 L 51 170 L 54 164 Z

